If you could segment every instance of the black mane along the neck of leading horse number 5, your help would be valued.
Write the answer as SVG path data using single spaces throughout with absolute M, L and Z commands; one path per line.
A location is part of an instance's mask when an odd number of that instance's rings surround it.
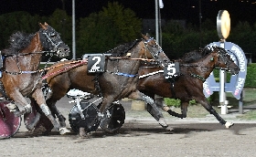
M 185 62 L 185 63 L 192 63 L 201 58 L 208 56 L 208 54 L 211 52 L 212 52 L 212 49 L 210 49 L 209 47 L 199 48 L 197 50 L 187 52 L 184 55 L 184 57 L 180 58 L 179 60 L 181 60 L 181 62 Z

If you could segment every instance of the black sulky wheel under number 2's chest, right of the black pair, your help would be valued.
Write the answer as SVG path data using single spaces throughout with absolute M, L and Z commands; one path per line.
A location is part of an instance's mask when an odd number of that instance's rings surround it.
M 98 107 L 101 107 L 101 104 L 99 104 Z M 117 131 L 123 126 L 124 120 L 125 111 L 122 104 L 119 102 L 113 102 L 107 109 L 106 113 L 104 113 L 100 126 L 104 131 Z

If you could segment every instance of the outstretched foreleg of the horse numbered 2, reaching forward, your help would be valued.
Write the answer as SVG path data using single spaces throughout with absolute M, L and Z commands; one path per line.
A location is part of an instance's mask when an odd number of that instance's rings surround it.
M 157 108 L 154 99 L 144 95 L 144 93 L 140 92 L 139 90 L 136 90 L 135 92 L 133 92 L 128 98 L 143 100 L 144 102 L 149 104 L 149 105 L 147 105 L 147 111 L 155 118 L 155 120 L 158 121 L 158 123 L 163 128 L 168 127 L 168 125 L 166 124 L 165 118 L 164 118 L 162 112 Z

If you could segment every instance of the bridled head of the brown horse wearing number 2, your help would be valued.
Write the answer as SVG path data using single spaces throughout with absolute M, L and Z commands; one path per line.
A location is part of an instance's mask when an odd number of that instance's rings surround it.
M 142 35 L 144 40 L 144 53 L 146 57 L 152 57 L 155 61 L 159 62 L 160 65 L 165 66 L 170 59 L 166 57 L 162 47 L 158 45 L 153 37 L 148 34 Z

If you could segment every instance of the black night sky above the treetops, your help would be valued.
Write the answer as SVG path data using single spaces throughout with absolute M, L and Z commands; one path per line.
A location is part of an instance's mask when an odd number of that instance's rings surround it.
M 71 16 L 72 0 L 63 0 L 64 8 Z M 116 0 L 124 7 L 131 8 L 140 18 L 155 18 L 155 0 Z M 202 21 L 209 18 L 216 22 L 219 10 L 228 10 L 231 25 L 238 21 L 256 22 L 256 0 L 201 0 Z M 49 16 L 56 8 L 63 8 L 61 0 L 1 0 L 0 15 L 14 11 Z M 76 0 L 76 17 L 86 17 L 101 11 L 112 0 Z M 199 23 L 199 0 L 163 0 L 161 17 L 165 19 L 186 19 Z

